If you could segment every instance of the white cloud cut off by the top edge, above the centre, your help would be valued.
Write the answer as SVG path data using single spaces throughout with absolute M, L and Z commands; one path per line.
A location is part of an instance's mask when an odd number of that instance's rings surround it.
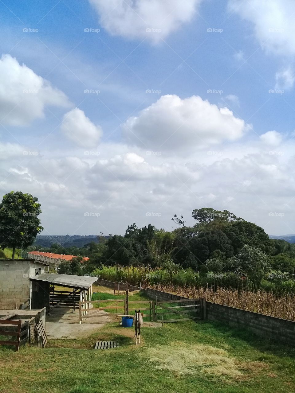
M 195 15 L 201 0 L 89 0 L 112 35 L 158 42 Z

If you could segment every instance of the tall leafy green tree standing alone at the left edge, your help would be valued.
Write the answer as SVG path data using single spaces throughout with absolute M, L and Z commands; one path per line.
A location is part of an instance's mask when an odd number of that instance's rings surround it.
M 38 216 L 42 213 L 38 198 L 21 191 L 11 191 L 0 204 L 0 247 L 15 249 L 31 246 L 44 228 Z

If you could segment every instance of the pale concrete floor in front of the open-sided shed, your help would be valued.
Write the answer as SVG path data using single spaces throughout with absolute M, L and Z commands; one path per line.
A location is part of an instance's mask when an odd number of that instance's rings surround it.
M 113 319 L 105 315 L 104 311 L 99 312 L 101 316 L 85 319 L 79 324 L 79 311 L 69 309 L 54 309 L 50 316 L 46 316 L 46 334 L 50 338 L 83 338 L 92 332 L 101 329 L 106 323 L 113 322 Z

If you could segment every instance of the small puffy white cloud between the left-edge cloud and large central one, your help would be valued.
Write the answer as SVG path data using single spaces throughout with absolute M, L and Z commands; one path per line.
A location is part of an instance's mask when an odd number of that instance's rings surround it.
M 79 108 L 74 108 L 64 115 L 61 130 L 82 147 L 96 147 L 102 136 L 101 127 L 93 124 Z

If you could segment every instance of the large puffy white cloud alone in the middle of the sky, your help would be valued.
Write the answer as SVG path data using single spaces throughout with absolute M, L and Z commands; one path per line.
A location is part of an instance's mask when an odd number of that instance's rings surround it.
M 199 96 L 181 99 L 177 95 L 160 97 L 122 125 L 123 137 L 129 143 L 180 155 L 237 140 L 249 127 L 228 108 L 219 109 Z

